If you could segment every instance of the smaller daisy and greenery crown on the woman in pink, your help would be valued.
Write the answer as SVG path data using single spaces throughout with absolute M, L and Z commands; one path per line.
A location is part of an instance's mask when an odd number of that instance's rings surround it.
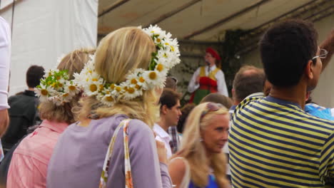
M 80 88 L 70 80 L 67 70 L 51 69 L 46 71 L 40 85 L 35 88 L 41 102 L 52 102 L 56 105 L 69 103 L 80 92 Z

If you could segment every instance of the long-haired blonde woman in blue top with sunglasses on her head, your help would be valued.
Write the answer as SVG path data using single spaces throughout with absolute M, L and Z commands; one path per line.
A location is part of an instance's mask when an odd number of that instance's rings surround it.
M 187 118 L 181 149 L 168 164 L 176 188 L 226 188 L 228 110 L 217 103 L 196 106 Z

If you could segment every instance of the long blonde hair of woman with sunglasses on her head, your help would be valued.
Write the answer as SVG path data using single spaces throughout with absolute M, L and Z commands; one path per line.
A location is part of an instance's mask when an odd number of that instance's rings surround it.
M 201 131 L 211 124 L 214 115 L 228 115 L 228 110 L 221 107 L 216 111 L 208 111 L 201 119 L 202 113 L 206 110 L 208 103 L 201 103 L 191 111 L 186 121 L 186 127 L 183 131 L 180 152 L 176 157 L 184 157 L 191 168 L 191 181 L 198 187 L 208 185 L 208 175 L 210 174 L 211 164 L 213 174 L 219 187 L 228 187 L 226 179 L 226 156 L 221 153 L 214 153 L 211 159 L 206 155 L 206 147 L 201 142 Z

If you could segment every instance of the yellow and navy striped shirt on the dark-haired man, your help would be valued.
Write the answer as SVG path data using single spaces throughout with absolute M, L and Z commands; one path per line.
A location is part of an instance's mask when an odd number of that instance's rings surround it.
M 243 100 L 232 122 L 233 187 L 324 187 L 334 178 L 334 122 L 262 93 Z

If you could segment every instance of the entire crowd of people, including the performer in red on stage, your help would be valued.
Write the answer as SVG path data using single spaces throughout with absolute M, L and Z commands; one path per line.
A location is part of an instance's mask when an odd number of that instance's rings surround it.
M 176 38 L 124 27 L 96 49 L 31 66 L 8 95 L 10 36 L 0 18 L 0 187 L 331 187 L 334 110 L 311 91 L 334 52 L 312 23 L 275 23 L 263 68 L 242 66 L 232 98 L 221 57 L 206 49 L 181 106 Z M 1 145 L 0 145 L 1 146 Z

